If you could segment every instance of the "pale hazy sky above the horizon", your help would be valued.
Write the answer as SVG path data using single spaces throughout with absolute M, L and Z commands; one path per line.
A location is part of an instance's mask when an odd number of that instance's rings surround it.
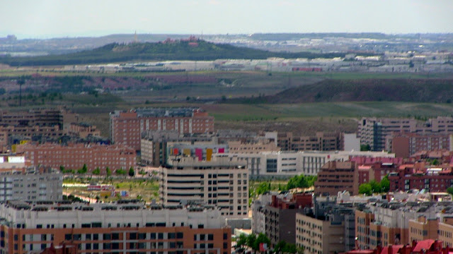
M 0 37 L 453 32 L 453 0 L 0 0 Z

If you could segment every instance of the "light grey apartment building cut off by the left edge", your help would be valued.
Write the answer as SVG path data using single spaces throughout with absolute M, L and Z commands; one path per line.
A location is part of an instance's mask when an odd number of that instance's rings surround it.
M 63 176 L 56 172 L 3 172 L 0 174 L 0 202 L 62 200 L 62 184 Z

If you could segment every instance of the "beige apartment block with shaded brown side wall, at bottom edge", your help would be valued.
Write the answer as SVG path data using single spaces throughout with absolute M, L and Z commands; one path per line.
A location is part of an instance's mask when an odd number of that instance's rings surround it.
M 296 246 L 306 254 L 333 254 L 345 251 L 345 226 L 330 220 L 296 214 Z

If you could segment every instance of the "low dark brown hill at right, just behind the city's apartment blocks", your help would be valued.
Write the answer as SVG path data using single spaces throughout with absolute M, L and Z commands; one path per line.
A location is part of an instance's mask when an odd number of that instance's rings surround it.
M 447 102 L 453 101 L 451 79 L 323 80 L 289 88 L 251 102 Z

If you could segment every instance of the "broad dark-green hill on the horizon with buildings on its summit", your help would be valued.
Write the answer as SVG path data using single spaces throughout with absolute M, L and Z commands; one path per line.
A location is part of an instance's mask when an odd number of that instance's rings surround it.
M 204 40 L 172 40 L 167 43 L 111 43 L 96 49 L 71 54 L 28 57 L 2 56 L 0 57 L 0 63 L 10 66 L 52 66 L 125 61 L 208 61 L 216 59 L 267 59 L 268 57 L 314 59 L 319 57 L 332 58 L 343 56 L 345 56 L 345 53 L 268 52 L 260 49 L 234 47 L 229 44 L 214 44 Z

